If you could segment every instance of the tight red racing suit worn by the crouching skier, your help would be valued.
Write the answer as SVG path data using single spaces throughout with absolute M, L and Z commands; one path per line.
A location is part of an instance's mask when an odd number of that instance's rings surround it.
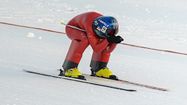
M 78 66 L 82 54 L 88 45 L 93 49 L 91 67 L 94 66 L 95 63 L 104 63 L 105 66 L 108 63 L 110 53 L 114 50 L 116 44 L 109 43 L 106 38 L 99 38 L 93 31 L 92 23 L 99 16 L 102 15 L 97 12 L 86 12 L 75 16 L 68 22 L 68 25 L 81 28 L 86 32 L 66 26 L 66 34 L 72 42 L 63 64 L 65 70 Z

